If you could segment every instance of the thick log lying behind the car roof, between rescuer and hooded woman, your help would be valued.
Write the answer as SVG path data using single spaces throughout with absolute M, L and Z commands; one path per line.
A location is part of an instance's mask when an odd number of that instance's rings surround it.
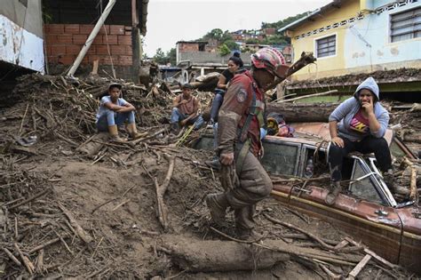
M 266 113 L 280 113 L 287 123 L 308 123 L 329 121 L 330 113 L 337 108 L 339 103 L 268 103 Z

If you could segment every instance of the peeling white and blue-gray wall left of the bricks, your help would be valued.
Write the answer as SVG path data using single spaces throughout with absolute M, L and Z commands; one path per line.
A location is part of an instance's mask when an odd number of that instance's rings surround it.
M 28 6 L 18 0 L 0 6 L 0 60 L 44 73 L 44 40 L 41 0 Z

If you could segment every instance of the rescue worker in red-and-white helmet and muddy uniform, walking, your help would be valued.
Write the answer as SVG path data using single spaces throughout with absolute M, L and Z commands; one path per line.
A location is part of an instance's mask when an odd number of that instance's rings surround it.
M 256 204 L 269 196 L 272 181 L 259 163 L 260 128 L 264 125 L 265 95 L 276 76 L 288 70 L 282 53 L 263 48 L 251 56 L 251 69 L 234 76 L 218 114 L 218 155 L 224 193 L 206 197 L 212 220 L 221 225 L 226 209 L 234 209 L 237 236 L 256 240 L 253 214 Z

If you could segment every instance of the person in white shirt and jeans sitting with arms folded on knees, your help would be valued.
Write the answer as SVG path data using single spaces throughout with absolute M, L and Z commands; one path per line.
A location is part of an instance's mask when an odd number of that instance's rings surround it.
M 147 135 L 136 129 L 134 108 L 131 103 L 120 97 L 122 84 L 112 83 L 108 86 L 108 95 L 101 98 L 97 113 L 96 125 L 99 132 L 109 132 L 111 140 L 125 141 L 118 135 L 118 125 L 127 122 L 126 129 L 133 140 Z

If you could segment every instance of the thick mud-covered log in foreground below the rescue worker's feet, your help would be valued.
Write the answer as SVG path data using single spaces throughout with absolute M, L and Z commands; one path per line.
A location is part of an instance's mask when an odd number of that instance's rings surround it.
M 269 268 L 289 260 L 289 255 L 354 267 L 361 256 L 323 252 L 286 244 L 282 240 L 263 240 L 254 244 L 234 241 L 197 241 L 183 236 L 166 236 L 163 251 L 171 254 L 180 268 L 187 271 L 231 271 Z

